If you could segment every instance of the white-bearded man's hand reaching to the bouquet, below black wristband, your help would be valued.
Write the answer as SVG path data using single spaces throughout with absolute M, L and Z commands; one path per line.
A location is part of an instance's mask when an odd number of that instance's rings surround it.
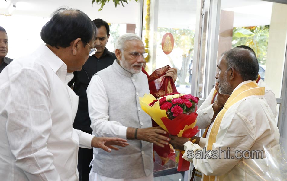
M 161 127 L 139 128 L 137 130 L 137 139 L 164 147 L 164 144 L 168 145 L 170 140 L 168 137 L 161 135 L 166 133 Z

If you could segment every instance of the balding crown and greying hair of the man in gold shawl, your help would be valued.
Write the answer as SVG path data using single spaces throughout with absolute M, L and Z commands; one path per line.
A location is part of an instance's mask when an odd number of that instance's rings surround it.
M 243 48 L 234 48 L 224 52 L 227 70 L 233 67 L 243 81 L 256 80 L 258 75 L 258 61 L 253 52 Z

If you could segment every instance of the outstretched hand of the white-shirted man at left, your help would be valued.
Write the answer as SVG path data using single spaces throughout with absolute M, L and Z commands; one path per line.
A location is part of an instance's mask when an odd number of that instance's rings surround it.
M 107 152 L 111 152 L 111 149 L 118 150 L 119 148 L 112 146 L 118 145 L 125 147 L 128 145 L 127 140 L 116 137 L 95 137 L 92 139 L 91 146 L 95 148 L 102 148 Z

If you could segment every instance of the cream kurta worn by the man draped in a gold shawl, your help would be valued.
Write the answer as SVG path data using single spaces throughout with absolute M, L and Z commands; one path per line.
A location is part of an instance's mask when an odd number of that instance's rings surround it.
M 207 133 L 206 147 L 210 130 Z M 263 150 L 264 145 L 269 148 L 272 154 L 280 150 L 279 138 L 279 130 L 275 124 L 274 115 L 266 100 L 263 99 L 263 96 L 249 96 L 238 101 L 226 111 L 218 130 L 216 142 L 212 145 L 212 150 L 218 151 L 221 147 L 221 150 L 230 150 L 230 157 L 234 157 L 237 150 Z M 202 148 L 198 144 L 192 144 L 192 142 L 186 142 L 184 148 L 183 158 L 192 161 L 194 167 L 205 175 L 222 175 L 220 180 L 226 181 L 254 180 L 252 176 L 240 169 L 239 166 L 242 161 L 240 159 L 189 159 L 187 154 L 189 150 L 195 152 L 202 150 Z M 209 155 L 211 154 L 209 153 Z M 243 161 L 247 160 L 243 158 Z

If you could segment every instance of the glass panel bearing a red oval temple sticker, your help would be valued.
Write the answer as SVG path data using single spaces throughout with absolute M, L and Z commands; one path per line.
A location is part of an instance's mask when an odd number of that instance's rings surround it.
M 151 3 L 150 16 L 147 17 L 146 1 L 143 11 L 143 40 L 149 35 L 147 72 L 151 74 L 166 65 L 175 67 L 178 69 L 177 90 L 190 93 L 197 1 L 182 0 L 179 4 L 159 0 Z M 150 21 L 148 30 L 146 20 Z

